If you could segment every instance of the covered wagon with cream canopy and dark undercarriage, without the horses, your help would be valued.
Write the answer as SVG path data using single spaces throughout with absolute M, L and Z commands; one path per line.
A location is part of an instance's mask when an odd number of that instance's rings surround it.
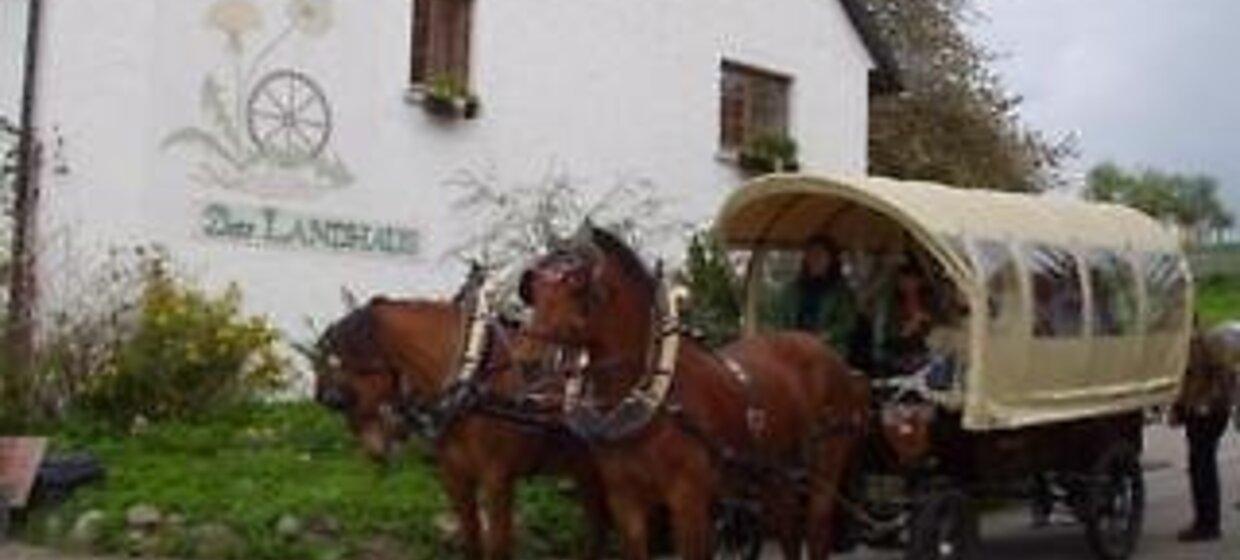
M 841 492 L 846 534 L 967 558 L 977 498 L 1025 496 L 1035 515 L 1066 505 L 1099 558 L 1132 554 L 1143 411 L 1174 398 L 1192 328 L 1174 233 L 1054 196 L 792 175 L 737 191 L 715 228 L 745 270 L 746 333 L 784 327 L 764 310 L 810 243 L 838 252 L 853 290 L 898 266 L 928 279 L 931 342 L 859 372 L 872 421 Z

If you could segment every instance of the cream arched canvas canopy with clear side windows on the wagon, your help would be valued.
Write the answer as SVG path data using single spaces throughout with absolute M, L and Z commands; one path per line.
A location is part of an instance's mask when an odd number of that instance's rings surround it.
M 816 238 L 848 250 L 930 255 L 970 310 L 955 327 L 966 341 L 959 392 L 967 429 L 1166 404 L 1184 372 L 1187 261 L 1174 232 L 1130 208 L 875 177 L 773 175 L 738 190 L 715 229 L 727 247 L 754 250 L 758 263 L 766 249 Z

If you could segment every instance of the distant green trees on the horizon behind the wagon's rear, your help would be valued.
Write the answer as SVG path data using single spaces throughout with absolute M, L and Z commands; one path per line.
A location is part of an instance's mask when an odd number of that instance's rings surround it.
M 1208 175 L 1169 173 L 1154 168 L 1128 171 L 1112 162 L 1090 170 L 1085 198 L 1140 209 L 1173 223 L 1202 242 L 1213 230 L 1231 227 L 1234 217 L 1219 199 L 1219 182 Z

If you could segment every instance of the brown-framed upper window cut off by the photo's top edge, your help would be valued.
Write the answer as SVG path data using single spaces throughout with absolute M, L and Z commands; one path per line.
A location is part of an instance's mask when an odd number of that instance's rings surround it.
M 409 79 L 469 84 L 470 27 L 474 0 L 414 0 L 413 55 Z

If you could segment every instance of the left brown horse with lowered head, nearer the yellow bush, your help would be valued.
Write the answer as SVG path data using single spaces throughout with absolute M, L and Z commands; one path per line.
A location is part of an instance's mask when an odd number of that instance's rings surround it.
M 315 399 L 347 416 L 374 460 L 389 458 L 397 444 L 423 429 L 434 442 L 467 558 L 512 556 L 515 484 L 544 472 L 575 481 L 589 532 L 584 556 L 599 558 L 606 508 L 584 442 L 539 422 L 492 414 L 484 404 L 525 387 L 507 357 L 512 331 L 489 325 L 476 387 L 454 387 L 467 346 L 470 313 L 464 307 L 460 301 L 374 299 L 353 310 L 319 342 Z M 465 394 L 471 398 L 460 396 Z M 435 420 L 434 430 L 418 426 Z

